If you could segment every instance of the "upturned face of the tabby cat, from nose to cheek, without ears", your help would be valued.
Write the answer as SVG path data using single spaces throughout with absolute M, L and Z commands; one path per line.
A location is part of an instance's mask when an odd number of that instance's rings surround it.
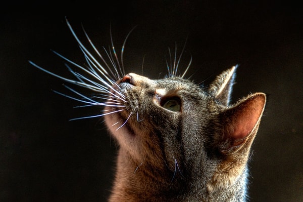
M 123 110 L 106 115 L 105 120 L 121 147 L 138 164 L 158 161 L 162 168 L 170 163 L 174 171 L 175 161 L 181 161 L 182 147 L 192 147 L 186 145 L 188 140 L 184 142 L 187 133 L 196 130 L 196 136 L 203 136 L 198 132 L 203 125 L 201 117 L 212 113 L 207 93 L 181 77 L 151 80 L 134 73 L 113 88 L 119 107 L 106 107 L 106 112 Z

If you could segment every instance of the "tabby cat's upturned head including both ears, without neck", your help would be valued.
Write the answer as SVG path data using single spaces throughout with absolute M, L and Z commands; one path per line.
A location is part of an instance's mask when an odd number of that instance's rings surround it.
M 118 80 L 112 92 L 119 106 L 107 106 L 113 113 L 105 120 L 134 169 L 208 179 L 209 191 L 232 184 L 244 172 L 266 102 L 256 93 L 229 105 L 235 70 L 209 88 L 182 77 L 129 73 Z

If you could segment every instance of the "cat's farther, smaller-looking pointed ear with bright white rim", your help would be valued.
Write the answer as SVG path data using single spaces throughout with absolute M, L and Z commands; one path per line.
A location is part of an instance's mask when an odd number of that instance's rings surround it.
M 223 71 L 216 77 L 214 82 L 211 83 L 209 88 L 209 92 L 217 99 L 217 101 L 225 106 L 228 106 L 229 104 L 237 67 L 238 65 Z

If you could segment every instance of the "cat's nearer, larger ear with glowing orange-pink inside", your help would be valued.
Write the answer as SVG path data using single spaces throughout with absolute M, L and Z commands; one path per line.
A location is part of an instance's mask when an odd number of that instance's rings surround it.
M 245 147 L 248 152 L 259 128 L 266 95 L 256 93 L 221 114 L 223 136 L 220 151 L 230 153 Z

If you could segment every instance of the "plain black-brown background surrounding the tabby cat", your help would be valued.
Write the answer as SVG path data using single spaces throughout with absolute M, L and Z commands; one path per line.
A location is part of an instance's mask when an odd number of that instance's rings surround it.
M 186 37 L 180 68 L 192 55 L 187 75 L 197 83 L 207 85 L 240 64 L 233 101 L 254 92 L 269 94 L 249 163 L 251 201 L 303 201 L 299 5 L 15 1 L 3 4 L 0 16 L 0 201 L 105 201 L 110 193 L 115 142 L 102 120 L 68 121 L 100 109 L 74 109 L 79 103 L 51 91 L 66 93 L 63 82 L 28 63 L 72 77 L 49 50 L 84 62 L 65 16 L 85 40 L 82 23 L 99 49 L 110 45 L 110 24 L 117 50 L 137 25 L 124 53 L 127 72 L 163 77 L 168 47 L 176 42 L 180 53 Z

